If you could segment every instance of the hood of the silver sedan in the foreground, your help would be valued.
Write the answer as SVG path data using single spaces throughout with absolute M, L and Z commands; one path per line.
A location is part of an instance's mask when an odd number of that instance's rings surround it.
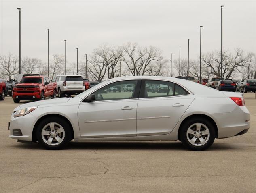
M 26 108 L 26 107 L 31 107 L 31 106 L 42 106 L 42 105 L 55 105 L 55 104 L 61 104 L 61 103 L 66 103 L 70 100 L 70 98 L 55 98 L 55 99 L 47 99 L 47 100 L 41 100 L 41 101 L 36 101 L 36 102 L 29 102 L 26 104 L 22 104 L 19 107 L 20 108 Z

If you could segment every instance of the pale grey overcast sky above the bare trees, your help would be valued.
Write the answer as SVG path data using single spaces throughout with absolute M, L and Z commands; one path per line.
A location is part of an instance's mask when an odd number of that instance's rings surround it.
M 156 46 L 166 59 L 197 58 L 202 28 L 202 52 L 220 49 L 221 8 L 223 8 L 223 47 L 241 47 L 256 52 L 255 0 L 179 1 L 68 1 L 1 0 L 0 54 L 19 55 L 19 10 L 21 8 L 21 56 L 47 62 L 47 30 L 50 28 L 50 55 L 65 54 L 76 62 L 85 53 L 107 42 L 123 45 L 137 42 Z

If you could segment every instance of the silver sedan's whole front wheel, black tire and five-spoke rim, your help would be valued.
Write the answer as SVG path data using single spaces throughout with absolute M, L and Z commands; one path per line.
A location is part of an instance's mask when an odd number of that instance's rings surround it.
M 38 143 L 51 150 L 62 149 L 71 139 L 68 122 L 59 117 L 42 120 L 38 125 L 36 134 Z

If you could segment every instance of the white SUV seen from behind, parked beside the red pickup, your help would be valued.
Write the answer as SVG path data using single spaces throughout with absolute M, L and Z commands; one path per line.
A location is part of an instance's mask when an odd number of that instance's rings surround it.
M 80 75 L 59 75 L 53 78 L 57 82 L 58 96 L 80 94 L 85 91 L 83 77 Z

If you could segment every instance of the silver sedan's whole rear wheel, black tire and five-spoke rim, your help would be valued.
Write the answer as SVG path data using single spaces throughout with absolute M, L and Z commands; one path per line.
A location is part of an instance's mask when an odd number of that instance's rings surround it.
M 182 143 L 193 151 L 203 151 L 209 148 L 216 135 L 212 123 L 204 118 L 191 118 L 180 129 Z

